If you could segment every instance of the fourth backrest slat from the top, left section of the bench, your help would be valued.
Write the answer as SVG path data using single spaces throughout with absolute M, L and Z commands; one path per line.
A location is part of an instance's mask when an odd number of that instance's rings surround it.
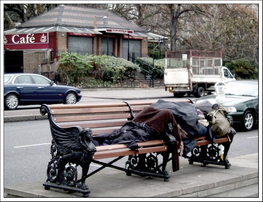
M 80 123 L 80 124 L 63 124 L 60 125 L 62 128 L 72 127 L 78 125 L 81 128 L 103 128 L 103 127 L 116 127 L 123 126 L 127 121 L 110 121 L 101 123 Z

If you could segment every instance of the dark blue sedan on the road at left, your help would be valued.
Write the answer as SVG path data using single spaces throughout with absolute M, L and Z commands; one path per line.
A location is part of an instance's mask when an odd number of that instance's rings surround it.
M 76 104 L 80 89 L 56 85 L 37 74 L 4 74 L 4 108 L 15 110 L 19 105 Z

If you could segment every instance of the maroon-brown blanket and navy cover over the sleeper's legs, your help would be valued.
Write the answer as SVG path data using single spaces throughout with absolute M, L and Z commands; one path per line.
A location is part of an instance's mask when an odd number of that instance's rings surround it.
M 110 144 L 126 144 L 130 149 L 138 148 L 136 142 L 144 142 L 151 139 L 164 139 L 167 125 L 172 125 L 172 136 L 176 139 L 172 153 L 173 171 L 179 170 L 179 153 L 178 149 L 182 141 L 181 133 L 177 127 L 176 120 L 170 110 L 156 109 L 153 106 L 145 107 L 132 121 L 128 121 L 120 129 L 114 130 L 112 133 L 102 133 L 93 136 L 93 144 L 110 145 Z

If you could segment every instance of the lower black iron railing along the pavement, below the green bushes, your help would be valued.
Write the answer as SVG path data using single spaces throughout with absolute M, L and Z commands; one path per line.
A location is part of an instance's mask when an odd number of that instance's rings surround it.
M 153 79 L 151 74 L 141 72 L 129 72 L 125 74 L 114 74 L 107 80 L 95 78 L 86 73 L 66 73 L 59 71 L 48 72 L 41 75 L 49 78 L 59 85 L 73 86 L 77 88 L 150 88 L 163 87 L 163 78 Z

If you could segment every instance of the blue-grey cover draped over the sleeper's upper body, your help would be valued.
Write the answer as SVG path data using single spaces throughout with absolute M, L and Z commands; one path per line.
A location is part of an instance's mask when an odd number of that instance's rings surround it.
M 188 132 L 190 137 L 198 134 L 198 114 L 196 107 L 188 102 L 170 102 L 164 100 L 158 100 L 151 106 L 157 109 L 171 110 L 177 123 Z

